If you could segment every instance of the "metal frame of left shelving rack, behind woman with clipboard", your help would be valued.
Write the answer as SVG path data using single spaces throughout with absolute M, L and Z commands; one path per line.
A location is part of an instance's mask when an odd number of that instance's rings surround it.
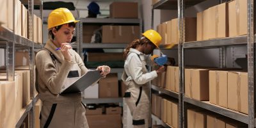
M 34 0 L 20 0 L 22 4 L 28 4 L 28 26 L 29 26 L 29 38 L 33 40 L 33 10 L 34 10 Z M 14 0 L 13 0 L 14 3 Z M 41 0 L 36 0 L 36 3 L 40 5 L 40 17 L 42 18 L 42 6 L 43 2 Z M 15 6 L 13 7 L 13 12 Z M 15 19 L 15 16 L 13 14 L 13 19 Z M 14 26 L 14 22 L 13 22 Z M 14 28 L 15 29 L 15 28 Z M 13 31 L 14 31 L 13 29 Z M 1 42 L 1 48 L 6 49 L 6 72 L 7 72 L 7 81 L 14 81 L 14 72 L 15 72 L 15 50 L 16 49 L 28 49 L 29 51 L 29 70 L 30 70 L 30 90 L 31 90 L 31 101 L 29 104 L 23 108 L 24 113 L 20 115 L 20 119 L 15 125 L 15 127 L 20 127 L 22 125 L 22 122 L 24 119 L 29 115 L 29 126 L 34 127 L 35 120 L 34 120 L 34 109 L 35 109 L 35 102 L 38 99 L 37 96 L 35 96 L 34 93 L 34 51 L 35 49 L 41 49 L 43 46 L 39 44 L 35 44 L 35 42 L 29 40 L 28 38 L 24 38 L 19 35 L 15 35 L 13 31 L 10 31 L 9 29 L 3 28 L 0 26 L 0 42 Z

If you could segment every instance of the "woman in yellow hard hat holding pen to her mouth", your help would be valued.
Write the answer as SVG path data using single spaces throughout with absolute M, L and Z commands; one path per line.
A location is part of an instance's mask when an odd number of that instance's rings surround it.
M 74 16 L 67 8 L 53 10 L 48 17 L 49 40 L 36 54 L 36 90 L 42 100 L 40 127 L 88 128 L 81 93 L 60 94 L 88 69 L 69 44 L 76 28 Z M 109 74 L 100 66 L 101 75 Z

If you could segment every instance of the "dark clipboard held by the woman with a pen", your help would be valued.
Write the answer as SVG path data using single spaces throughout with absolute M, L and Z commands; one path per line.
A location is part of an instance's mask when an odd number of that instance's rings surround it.
M 88 86 L 97 83 L 101 77 L 100 70 L 89 70 L 70 86 L 63 88 L 60 94 L 83 92 Z

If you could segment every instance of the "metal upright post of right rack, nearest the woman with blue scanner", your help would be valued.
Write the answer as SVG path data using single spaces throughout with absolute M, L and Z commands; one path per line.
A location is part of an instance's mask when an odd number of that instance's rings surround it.
M 186 109 L 184 108 L 184 37 L 185 37 L 185 29 L 184 29 L 184 1 L 178 0 L 178 30 L 179 30 L 179 127 L 186 127 L 184 119 L 186 118 Z

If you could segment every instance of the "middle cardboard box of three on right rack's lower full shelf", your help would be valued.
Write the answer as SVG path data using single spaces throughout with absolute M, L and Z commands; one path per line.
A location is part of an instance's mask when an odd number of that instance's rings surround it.
M 209 100 L 212 104 L 228 107 L 228 71 L 209 71 Z

